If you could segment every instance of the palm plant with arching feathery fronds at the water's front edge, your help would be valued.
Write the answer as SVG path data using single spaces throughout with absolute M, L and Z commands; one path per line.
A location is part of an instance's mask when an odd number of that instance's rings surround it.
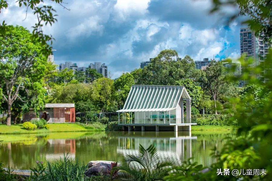
M 118 178 L 130 181 L 163 180 L 173 167 L 179 165 L 176 159 L 160 158 L 153 144 L 147 149 L 140 144 L 137 156 L 126 155 L 119 163 L 112 171 L 119 170 Z

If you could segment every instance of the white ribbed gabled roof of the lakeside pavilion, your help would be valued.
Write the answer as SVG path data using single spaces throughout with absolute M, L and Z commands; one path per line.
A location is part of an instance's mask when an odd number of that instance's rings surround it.
M 181 98 L 191 99 L 183 86 L 132 85 L 124 108 L 117 112 L 169 111 Z

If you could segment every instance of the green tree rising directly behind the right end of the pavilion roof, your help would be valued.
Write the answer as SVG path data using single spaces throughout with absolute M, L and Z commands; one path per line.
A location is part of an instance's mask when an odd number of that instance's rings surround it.
M 176 85 L 184 86 L 186 88 L 188 94 L 192 98 L 192 106 L 197 107 L 199 100 L 203 95 L 201 87 L 197 86 L 192 79 L 188 78 L 176 81 Z

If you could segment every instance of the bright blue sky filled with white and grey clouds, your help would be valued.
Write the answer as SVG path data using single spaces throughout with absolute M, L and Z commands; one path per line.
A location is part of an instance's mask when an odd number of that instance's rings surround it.
M 31 30 L 36 18 L 15 1 L 8 1 L 0 21 Z M 46 3 L 49 3 L 45 1 Z M 226 26 L 227 16 L 209 14 L 210 0 L 64 0 L 52 3 L 58 22 L 45 27 L 55 38 L 54 59 L 79 67 L 93 62 L 108 65 L 112 78 L 140 67 L 163 49 L 176 49 L 180 57 L 217 60 L 239 56 L 237 21 Z M 227 7 L 225 14 L 237 12 Z M 25 19 L 25 20 L 24 20 Z M 1 21 L 2 22 L 2 21 Z

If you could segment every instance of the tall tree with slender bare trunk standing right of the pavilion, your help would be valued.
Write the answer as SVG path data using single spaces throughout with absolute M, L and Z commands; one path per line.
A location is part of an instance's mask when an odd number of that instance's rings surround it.
M 226 71 L 222 62 L 212 61 L 199 78 L 199 83 L 206 90 L 214 101 L 214 110 L 217 114 L 216 101 L 220 94 L 222 94 L 222 88 L 228 86 L 229 81 L 226 79 Z

